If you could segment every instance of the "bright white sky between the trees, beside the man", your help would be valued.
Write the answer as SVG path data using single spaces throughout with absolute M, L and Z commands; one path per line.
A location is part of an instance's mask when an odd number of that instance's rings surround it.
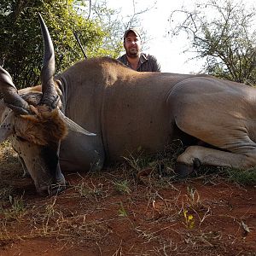
M 183 53 L 189 45 L 186 37 L 171 38 L 167 35 L 170 27 L 168 18 L 173 10 L 181 9 L 181 7 L 194 5 L 195 1 L 200 0 L 135 0 L 137 11 L 154 6 L 143 15 L 140 15 L 141 29 L 147 32 L 150 38 L 146 42 L 147 49 L 145 52 L 154 55 L 160 62 L 161 72 L 169 73 L 200 73 L 203 61 L 189 61 L 195 57 L 195 54 Z M 202 0 L 205 3 L 205 0 Z M 254 0 L 244 0 L 249 5 L 254 4 Z M 255 6 L 255 4 L 254 4 Z M 122 16 L 131 15 L 133 13 L 132 0 L 108 0 L 108 7 L 111 9 L 119 9 Z M 208 15 L 211 15 L 209 12 Z

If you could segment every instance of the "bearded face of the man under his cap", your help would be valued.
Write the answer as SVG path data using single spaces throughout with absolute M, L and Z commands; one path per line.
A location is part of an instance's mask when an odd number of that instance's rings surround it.
M 124 47 L 126 55 L 128 55 L 130 58 L 136 58 L 141 53 L 141 38 L 137 37 L 134 32 L 129 32 L 125 38 Z

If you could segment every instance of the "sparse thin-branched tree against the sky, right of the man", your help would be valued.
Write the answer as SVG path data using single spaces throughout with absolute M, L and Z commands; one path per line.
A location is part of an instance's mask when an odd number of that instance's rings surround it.
M 179 20 L 183 16 L 182 22 L 175 22 L 177 16 Z M 195 4 L 194 10 L 173 11 L 170 22 L 172 34 L 185 32 L 191 48 L 195 49 L 195 58 L 206 60 L 206 73 L 253 85 L 256 84 L 255 18 L 255 9 L 245 3 L 210 0 Z

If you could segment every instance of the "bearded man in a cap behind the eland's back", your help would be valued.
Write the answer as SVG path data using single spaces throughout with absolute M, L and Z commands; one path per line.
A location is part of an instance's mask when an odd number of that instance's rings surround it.
M 118 58 L 126 66 L 137 71 L 160 72 L 160 64 L 153 55 L 142 53 L 142 41 L 139 32 L 135 28 L 125 31 L 124 35 L 125 55 Z

